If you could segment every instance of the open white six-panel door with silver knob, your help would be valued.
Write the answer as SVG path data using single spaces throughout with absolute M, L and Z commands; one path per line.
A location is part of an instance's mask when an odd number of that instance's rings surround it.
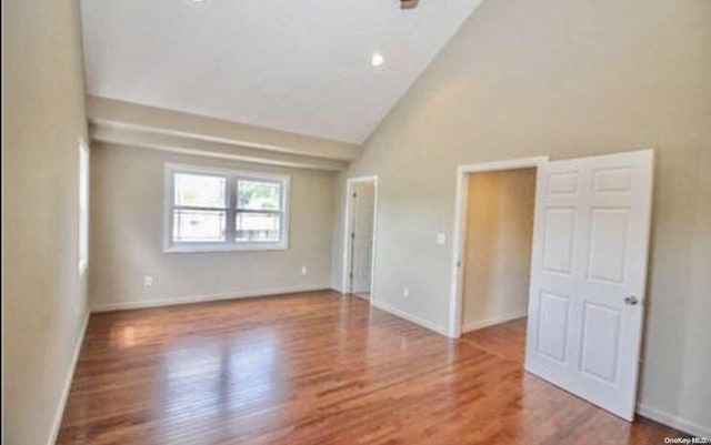
M 525 370 L 632 421 L 651 150 L 539 169 Z

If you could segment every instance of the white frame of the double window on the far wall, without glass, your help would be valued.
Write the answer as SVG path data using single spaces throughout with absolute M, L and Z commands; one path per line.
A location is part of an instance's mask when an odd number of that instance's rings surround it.
M 207 174 L 223 176 L 227 182 L 227 221 L 224 241 L 216 242 L 173 242 L 173 210 L 174 205 L 174 175 L 177 173 Z M 237 181 L 254 180 L 264 182 L 278 182 L 281 184 L 281 239 L 277 242 L 238 242 L 236 237 L 236 214 L 237 208 Z M 190 252 L 244 252 L 244 251 L 282 251 L 289 249 L 289 201 L 291 190 L 291 178 L 286 174 L 260 173 L 242 170 L 227 170 L 211 166 L 198 166 L 166 163 L 166 179 L 163 193 L 163 252 L 166 253 L 190 253 Z M 257 213 L 262 213 L 256 211 Z M 268 212 L 269 213 L 269 212 Z

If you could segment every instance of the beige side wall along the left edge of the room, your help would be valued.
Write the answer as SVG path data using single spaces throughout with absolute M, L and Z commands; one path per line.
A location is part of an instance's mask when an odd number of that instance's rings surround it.
M 2 1 L 2 443 L 46 444 L 87 314 L 78 3 Z

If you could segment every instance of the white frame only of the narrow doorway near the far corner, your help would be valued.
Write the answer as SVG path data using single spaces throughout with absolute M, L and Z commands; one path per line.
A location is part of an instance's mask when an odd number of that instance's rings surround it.
M 351 265 L 351 244 L 352 239 L 350 236 L 351 220 L 353 215 L 353 205 L 351 194 L 353 193 L 353 185 L 361 182 L 373 183 L 373 233 L 372 233 L 372 247 L 370 259 L 370 299 L 372 304 L 375 295 L 375 246 L 378 245 L 378 175 L 371 174 L 365 176 L 353 176 L 346 179 L 346 210 L 343 218 L 343 273 L 341 276 L 341 292 L 350 294 L 352 291 L 351 281 L 349 277 Z

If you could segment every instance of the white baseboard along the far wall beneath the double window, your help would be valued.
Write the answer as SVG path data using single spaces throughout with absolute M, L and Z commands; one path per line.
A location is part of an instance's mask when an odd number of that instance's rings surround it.
M 289 286 L 289 287 L 274 287 L 257 291 L 239 291 L 239 292 L 226 292 L 220 294 L 206 294 L 206 295 L 191 295 L 179 296 L 174 299 L 159 299 L 159 300 L 144 300 L 144 301 L 131 301 L 121 303 L 106 303 L 96 304 L 91 307 L 92 313 L 98 312 L 111 312 L 111 311 L 126 311 L 132 309 L 147 309 L 147 307 L 160 307 L 160 306 L 174 306 L 179 304 L 190 303 L 207 303 L 221 300 L 237 300 L 249 299 L 254 296 L 269 296 L 269 295 L 283 295 L 293 294 L 298 292 L 316 292 L 328 291 L 331 289 L 331 284 L 309 284 L 303 286 Z

